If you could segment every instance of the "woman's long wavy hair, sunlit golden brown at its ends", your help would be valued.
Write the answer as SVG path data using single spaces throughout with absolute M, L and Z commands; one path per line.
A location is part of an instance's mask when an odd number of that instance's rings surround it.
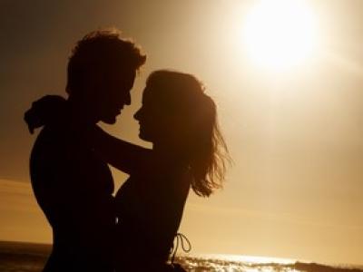
M 231 161 L 215 102 L 205 94 L 203 84 L 188 73 L 155 71 L 146 84 L 158 90 L 162 111 L 171 114 L 175 128 L 179 127 L 179 150 L 188 158 L 191 188 L 197 195 L 209 197 L 222 187 Z

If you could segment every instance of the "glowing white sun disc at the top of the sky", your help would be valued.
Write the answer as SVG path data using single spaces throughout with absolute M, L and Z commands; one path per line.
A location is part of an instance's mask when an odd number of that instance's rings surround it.
M 243 43 L 252 61 L 264 67 L 286 70 L 316 49 L 317 25 L 305 1 L 262 0 L 246 19 Z

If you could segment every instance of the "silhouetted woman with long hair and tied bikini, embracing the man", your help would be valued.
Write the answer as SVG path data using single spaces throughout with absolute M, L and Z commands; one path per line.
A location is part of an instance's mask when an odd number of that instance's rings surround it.
M 172 271 L 167 261 L 189 190 L 209 197 L 221 188 L 228 150 L 216 105 L 191 74 L 153 72 L 134 119 L 140 138 L 152 142 L 152 149 L 99 127 L 84 136 L 103 160 L 130 175 L 115 197 L 115 267 Z

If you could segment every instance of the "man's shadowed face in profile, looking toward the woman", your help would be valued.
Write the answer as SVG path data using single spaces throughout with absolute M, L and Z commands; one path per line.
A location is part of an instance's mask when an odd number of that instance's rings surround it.
M 135 71 L 118 69 L 105 73 L 103 84 L 98 90 L 98 112 L 100 121 L 108 124 L 116 122 L 116 117 L 124 105 L 131 104 L 131 89 L 135 79 Z

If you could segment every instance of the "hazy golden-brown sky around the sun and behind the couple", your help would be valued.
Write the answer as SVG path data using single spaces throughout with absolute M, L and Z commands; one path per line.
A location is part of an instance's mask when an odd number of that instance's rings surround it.
M 363 1 L 306 1 L 319 48 L 284 71 L 244 50 L 259 1 L 51 2 L 0 2 L 1 240 L 51 241 L 30 189 L 23 113 L 45 93 L 64 95 L 75 41 L 116 26 L 148 60 L 108 131 L 145 144 L 132 114 L 156 69 L 194 73 L 219 105 L 234 165 L 225 189 L 188 199 L 181 230 L 193 253 L 363 263 Z M 113 173 L 119 186 L 125 175 Z

